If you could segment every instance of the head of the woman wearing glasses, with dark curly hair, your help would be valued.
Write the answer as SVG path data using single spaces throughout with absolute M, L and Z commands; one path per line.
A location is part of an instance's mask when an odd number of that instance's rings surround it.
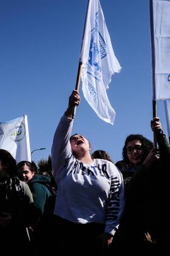
M 153 148 L 153 143 L 140 134 L 129 135 L 123 147 L 123 160 L 128 165 L 139 166 Z

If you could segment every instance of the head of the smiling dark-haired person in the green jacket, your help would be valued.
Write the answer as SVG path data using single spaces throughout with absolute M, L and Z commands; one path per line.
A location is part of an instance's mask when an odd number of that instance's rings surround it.
M 29 182 L 35 176 L 36 170 L 33 163 L 22 161 L 18 163 L 19 178 L 24 182 Z

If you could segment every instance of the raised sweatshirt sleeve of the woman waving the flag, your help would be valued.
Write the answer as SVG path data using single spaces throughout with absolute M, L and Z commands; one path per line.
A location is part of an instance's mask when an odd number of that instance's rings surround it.
M 64 166 L 66 160 L 72 157 L 72 149 L 69 140 L 72 127 L 73 119 L 67 118 L 64 114 L 56 128 L 52 144 L 52 166 L 55 176 L 56 172 Z

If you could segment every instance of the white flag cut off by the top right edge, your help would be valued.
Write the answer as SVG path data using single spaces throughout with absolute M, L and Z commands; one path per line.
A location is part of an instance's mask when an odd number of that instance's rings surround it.
M 153 99 L 170 99 L 170 1 L 150 1 Z

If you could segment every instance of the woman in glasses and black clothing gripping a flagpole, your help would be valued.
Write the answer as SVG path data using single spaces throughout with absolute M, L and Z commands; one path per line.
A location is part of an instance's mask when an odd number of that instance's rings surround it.
M 158 148 L 138 135 L 129 135 L 124 144 L 124 164 L 129 166 L 124 173 L 132 173 L 128 179 L 124 176 L 126 205 L 115 239 L 117 255 L 153 255 L 169 246 L 170 148 L 159 118 L 152 120 L 151 127 Z

